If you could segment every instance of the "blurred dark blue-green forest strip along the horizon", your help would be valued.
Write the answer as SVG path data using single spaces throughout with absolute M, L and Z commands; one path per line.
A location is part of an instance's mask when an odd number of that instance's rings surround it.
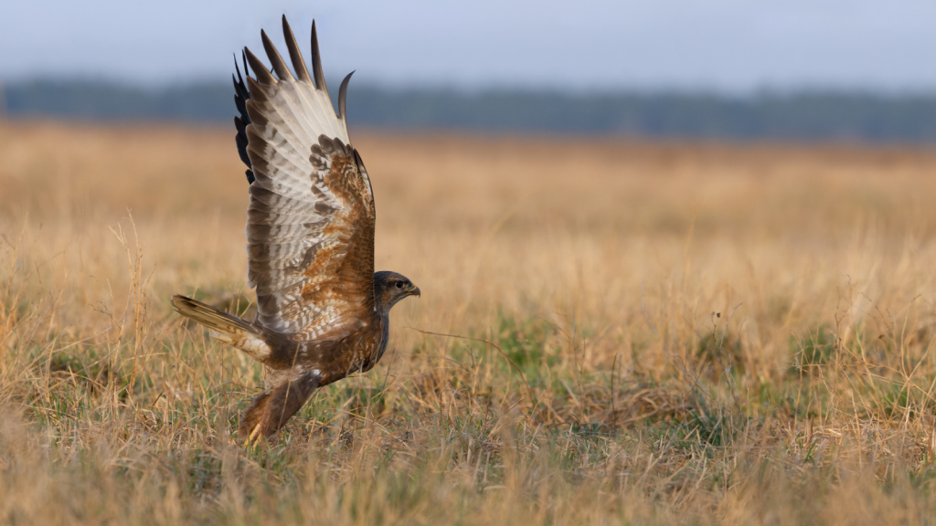
M 337 86 L 340 79 L 329 80 Z M 333 90 L 337 95 L 337 90 Z M 227 123 L 230 83 L 148 90 L 94 80 L 23 80 L 6 89 L 12 117 Z M 352 126 L 595 134 L 678 139 L 936 140 L 936 94 L 881 91 L 608 91 L 390 88 L 351 82 Z

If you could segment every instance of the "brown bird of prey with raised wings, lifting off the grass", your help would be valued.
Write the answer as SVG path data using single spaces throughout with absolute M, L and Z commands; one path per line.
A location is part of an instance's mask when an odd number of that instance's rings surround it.
M 371 370 L 387 348 L 390 308 L 420 295 L 401 274 L 373 270 L 371 179 L 348 139 L 344 112 L 351 75 L 342 82 L 336 115 L 315 23 L 312 75 L 285 16 L 283 33 L 295 74 L 263 31 L 272 69 L 244 48 L 244 83 L 235 60 L 234 124 L 248 168 L 247 280 L 256 288 L 256 319 L 172 297 L 179 314 L 266 368 L 266 390 L 241 417 L 238 434 L 248 443 L 279 430 L 316 388 Z

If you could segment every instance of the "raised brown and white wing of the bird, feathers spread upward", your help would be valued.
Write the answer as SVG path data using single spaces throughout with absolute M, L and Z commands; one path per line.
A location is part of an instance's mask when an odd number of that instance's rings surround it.
M 351 75 L 342 82 L 336 115 L 314 22 L 314 81 L 285 17 L 283 33 L 295 77 L 261 32 L 275 77 L 245 48 L 249 91 L 238 88 L 235 97 L 246 117 L 235 120 L 238 146 L 248 181 L 254 179 L 248 283 L 256 286 L 262 326 L 297 340 L 340 339 L 373 314 L 373 191 L 344 118 Z

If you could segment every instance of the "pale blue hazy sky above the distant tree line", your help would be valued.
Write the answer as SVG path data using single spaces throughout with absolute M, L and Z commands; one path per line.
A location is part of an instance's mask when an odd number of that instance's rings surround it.
M 0 77 L 227 80 L 284 12 L 391 86 L 936 91 L 936 0 L 4 0 Z

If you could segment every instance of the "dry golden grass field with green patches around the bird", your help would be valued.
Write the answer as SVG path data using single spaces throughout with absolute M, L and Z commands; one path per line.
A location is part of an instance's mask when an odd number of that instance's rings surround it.
M 233 128 L 0 124 L 0 521 L 933 523 L 936 151 L 354 139 L 422 298 L 245 447 Z

